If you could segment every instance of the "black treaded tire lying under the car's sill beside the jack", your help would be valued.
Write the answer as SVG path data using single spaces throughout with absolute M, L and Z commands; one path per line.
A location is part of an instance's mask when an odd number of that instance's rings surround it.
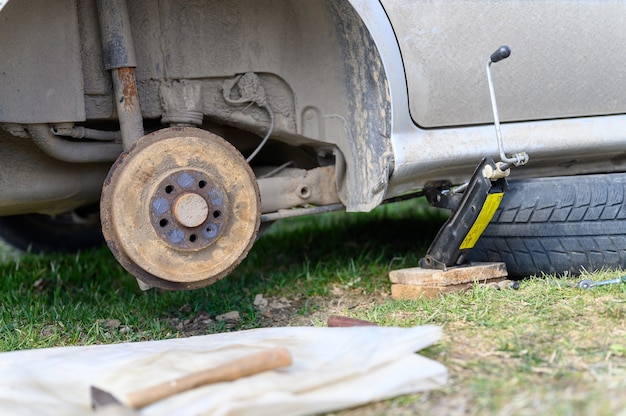
M 509 181 L 470 258 L 511 276 L 626 267 L 626 174 Z

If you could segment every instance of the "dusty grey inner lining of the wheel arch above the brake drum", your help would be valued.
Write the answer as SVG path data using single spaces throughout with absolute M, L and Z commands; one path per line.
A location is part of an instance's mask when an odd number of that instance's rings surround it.
M 390 92 L 380 53 L 351 3 L 207 1 L 193 3 L 194 13 L 180 4 L 162 2 L 153 16 L 146 2 L 129 2 L 133 27 L 144 29 L 134 32 L 144 116 L 162 115 L 163 80 L 207 80 L 213 98 L 204 99 L 205 118 L 262 135 L 262 111 L 250 121 L 220 101 L 220 79 L 256 73 L 278 110 L 272 138 L 339 149 L 342 202 L 349 211 L 376 207 L 393 165 Z M 158 49 L 156 31 L 164 35 Z

